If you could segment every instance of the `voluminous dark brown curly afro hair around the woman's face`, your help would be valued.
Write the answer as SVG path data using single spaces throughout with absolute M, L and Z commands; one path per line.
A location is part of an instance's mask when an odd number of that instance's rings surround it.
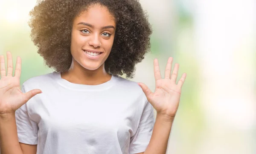
M 139 0 L 43 0 L 29 13 L 31 38 L 44 63 L 57 72 L 70 68 L 73 20 L 89 6 L 106 6 L 116 20 L 113 46 L 105 61 L 108 73 L 133 78 L 135 64 L 150 51 L 151 25 Z

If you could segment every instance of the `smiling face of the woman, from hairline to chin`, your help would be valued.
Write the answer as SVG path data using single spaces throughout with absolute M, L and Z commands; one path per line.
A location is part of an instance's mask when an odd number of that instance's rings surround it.
M 93 5 L 73 22 L 71 54 L 73 67 L 104 69 L 113 45 L 116 23 L 105 6 Z

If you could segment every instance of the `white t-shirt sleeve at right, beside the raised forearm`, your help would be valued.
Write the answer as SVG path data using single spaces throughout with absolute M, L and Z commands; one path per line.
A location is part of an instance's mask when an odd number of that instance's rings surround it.
M 151 139 L 154 122 L 154 108 L 146 101 L 137 131 L 130 140 L 129 154 L 137 154 L 146 150 Z

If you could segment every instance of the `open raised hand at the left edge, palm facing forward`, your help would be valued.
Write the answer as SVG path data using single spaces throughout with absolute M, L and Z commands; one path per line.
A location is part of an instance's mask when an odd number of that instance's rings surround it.
M 12 72 L 12 53 L 7 51 L 7 76 L 4 56 L 0 55 L 0 115 L 15 113 L 15 111 L 28 102 L 29 99 L 41 93 L 39 89 L 30 90 L 26 93 L 22 93 L 20 90 L 20 56 L 17 57 L 14 76 L 12 76 Z

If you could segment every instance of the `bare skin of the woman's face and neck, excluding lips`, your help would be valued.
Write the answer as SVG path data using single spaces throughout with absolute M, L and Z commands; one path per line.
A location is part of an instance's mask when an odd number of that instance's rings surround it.
M 111 74 L 105 71 L 104 62 L 111 52 L 115 29 L 115 19 L 105 6 L 93 5 L 87 11 L 81 12 L 73 22 L 71 34 L 70 49 L 73 61 L 70 69 L 61 73 L 61 78 L 72 83 L 87 85 L 109 81 Z M 92 60 L 86 56 L 84 49 L 103 53 L 99 59 Z

